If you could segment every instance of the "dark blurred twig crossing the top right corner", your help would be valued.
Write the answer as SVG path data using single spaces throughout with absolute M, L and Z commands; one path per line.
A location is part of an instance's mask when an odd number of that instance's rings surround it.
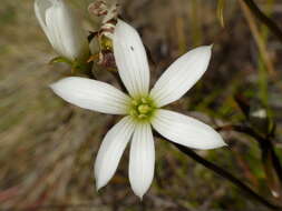
M 252 13 L 262 22 L 264 23 L 270 31 L 276 36 L 276 38 L 282 42 L 282 30 L 279 28 L 279 26 L 271 20 L 269 17 L 266 17 L 260 8 L 254 3 L 253 0 L 244 0 L 245 4 L 249 7 L 249 9 L 252 11 Z

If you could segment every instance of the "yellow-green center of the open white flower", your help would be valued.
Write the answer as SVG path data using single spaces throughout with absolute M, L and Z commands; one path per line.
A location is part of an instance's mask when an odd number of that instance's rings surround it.
M 129 114 L 137 121 L 148 121 L 154 114 L 156 107 L 148 97 L 133 99 L 129 107 Z

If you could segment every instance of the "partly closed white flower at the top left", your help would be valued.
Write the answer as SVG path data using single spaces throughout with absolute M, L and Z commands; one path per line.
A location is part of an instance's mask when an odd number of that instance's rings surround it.
M 36 0 L 35 11 L 52 48 L 61 57 L 70 61 L 86 59 L 89 52 L 86 34 L 64 0 Z

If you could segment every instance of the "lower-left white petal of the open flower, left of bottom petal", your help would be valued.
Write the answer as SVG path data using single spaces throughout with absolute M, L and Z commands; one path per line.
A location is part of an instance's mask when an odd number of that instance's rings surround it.
M 116 172 L 119 160 L 134 131 L 130 117 L 125 117 L 104 138 L 95 162 L 97 190 L 105 187 Z

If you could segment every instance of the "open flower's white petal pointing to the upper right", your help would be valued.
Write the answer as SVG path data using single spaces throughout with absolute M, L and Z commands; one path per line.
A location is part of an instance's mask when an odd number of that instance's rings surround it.
M 212 47 L 198 47 L 178 58 L 158 79 L 150 91 L 158 107 L 178 100 L 206 71 Z

